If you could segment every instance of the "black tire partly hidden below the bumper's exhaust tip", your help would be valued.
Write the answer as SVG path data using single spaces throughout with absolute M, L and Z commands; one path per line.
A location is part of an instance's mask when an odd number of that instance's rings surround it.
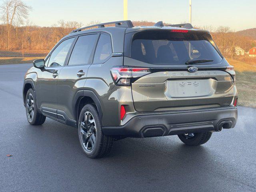
M 190 135 L 190 136 L 189 136 Z M 185 135 L 181 134 L 178 135 L 180 140 L 184 142 L 186 145 L 191 145 L 191 146 L 197 146 L 197 145 L 202 145 L 206 143 L 212 136 L 212 132 L 202 132 L 202 133 L 194 133 L 194 136 L 191 137 L 191 134 Z

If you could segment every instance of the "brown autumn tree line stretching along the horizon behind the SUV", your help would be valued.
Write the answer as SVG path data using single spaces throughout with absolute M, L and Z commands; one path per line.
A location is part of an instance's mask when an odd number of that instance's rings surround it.
M 75 28 L 83 26 L 76 21 L 60 20 L 51 27 L 35 26 L 27 21 L 31 10 L 22 0 L 6 0 L 0 7 L 3 24 L 0 25 L 0 50 L 51 50 L 52 47 L 65 35 Z M 90 22 L 87 25 L 97 24 L 99 21 Z M 134 26 L 152 26 L 154 22 L 133 21 Z M 256 41 L 249 36 L 242 36 L 232 32 L 229 27 L 212 26 L 196 27 L 209 30 L 220 51 L 225 57 L 236 56 L 237 47 L 245 52 L 253 46 Z M 246 54 L 245 54 L 246 55 Z

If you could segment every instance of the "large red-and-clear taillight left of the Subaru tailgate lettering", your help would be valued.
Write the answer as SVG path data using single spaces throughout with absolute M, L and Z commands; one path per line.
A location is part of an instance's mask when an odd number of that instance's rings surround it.
M 113 67 L 110 72 L 115 84 L 120 86 L 130 86 L 132 78 L 142 77 L 151 73 L 149 68 L 130 67 Z

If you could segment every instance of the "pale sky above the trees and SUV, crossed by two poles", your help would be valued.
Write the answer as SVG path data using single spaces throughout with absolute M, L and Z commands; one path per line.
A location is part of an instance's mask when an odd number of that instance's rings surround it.
M 52 26 L 58 20 L 110 22 L 123 20 L 123 0 L 24 0 L 32 7 L 29 20 Z M 188 22 L 189 0 L 128 0 L 128 19 L 166 23 Z M 256 28 L 256 0 L 192 0 L 192 24 Z

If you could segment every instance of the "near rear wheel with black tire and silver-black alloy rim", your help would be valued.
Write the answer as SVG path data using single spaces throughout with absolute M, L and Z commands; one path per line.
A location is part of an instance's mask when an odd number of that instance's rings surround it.
M 89 158 L 101 158 L 110 153 L 113 138 L 103 134 L 98 112 L 92 104 L 85 105 L 80 112 L 78 138 Z

